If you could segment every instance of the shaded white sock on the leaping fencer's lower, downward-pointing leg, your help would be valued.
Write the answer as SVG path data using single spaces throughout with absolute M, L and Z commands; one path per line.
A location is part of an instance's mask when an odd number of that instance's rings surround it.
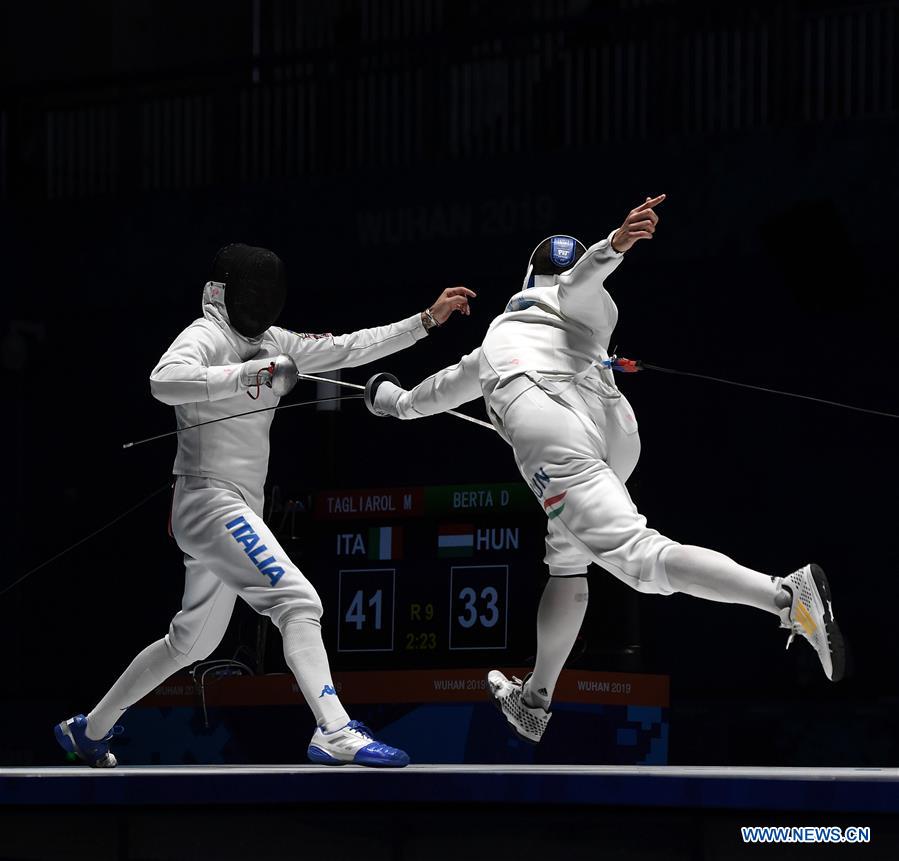
M 537 663 L 523 692 L 526 705 L 549 710 L 559 673 L 587 612 L 586 577 L 550 577 L 537 610 Z

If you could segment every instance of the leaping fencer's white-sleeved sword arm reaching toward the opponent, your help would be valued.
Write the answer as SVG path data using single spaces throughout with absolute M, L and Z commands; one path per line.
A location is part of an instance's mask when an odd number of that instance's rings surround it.
M 478 347 L 455 365 L 437 371 L 408 391 L 391 382 L 380 383 L 374 397 L 374 412 L 399 419 L 420 419 L 480 398 L 480 356 Z

